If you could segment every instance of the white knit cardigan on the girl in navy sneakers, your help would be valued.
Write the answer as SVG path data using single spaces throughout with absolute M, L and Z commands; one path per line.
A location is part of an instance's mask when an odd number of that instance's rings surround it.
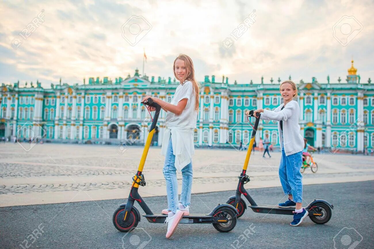
M 283 120 L 283 139 L 281 136 L 281 125 L 278 122 L 279 141 L 284 146 L 286 156 L 298 153 L 304 149 L 304 139 L 300 135 L 300 125 L 298 123 L 300 116 L 299 104 L 291 100 L 281 110 L 284 104 L 279 105 L 274 111 L 264 110 L 260 119 L 263 120 Z

